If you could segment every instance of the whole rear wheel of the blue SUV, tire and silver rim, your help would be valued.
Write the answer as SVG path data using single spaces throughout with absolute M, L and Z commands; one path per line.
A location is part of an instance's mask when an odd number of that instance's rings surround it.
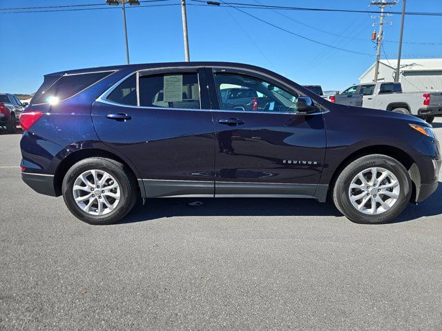
M 99 186 L 100 181 L 103 181 L 102 186 Z M 74 185 L 81 188 L 74 190 Z M 61 190 L 70 212 L 93 225 L 117 223 L 137 201 L 137 181 L 131 170 L 122 163 L 103 157 L 90 157 L 75 163 L 66 172 Z M 86 196 L 89 198 L 85 199 Z M 76 198 L 85 200 L 77 203 Z M 102 208 L 101 213 L 99 208 Z

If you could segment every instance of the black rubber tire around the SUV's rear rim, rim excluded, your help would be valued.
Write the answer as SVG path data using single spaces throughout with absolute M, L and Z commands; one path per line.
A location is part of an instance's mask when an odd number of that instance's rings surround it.
M 64 201 L 75 217 L 86 223 L 94 225 L 113 224 L 122 219 L 135 204 L 135 197 L 133 192 L 130 192 L 133 185 L 131 185 L 131 178 L 122 169 L 121 163 L 116 163 L 113 160 L 104 158 L 84 159 L 75 163 L 64 177 L 62 184 L 62 192 Z M 73 185 L 77 177 L 87 170 L 103 170 L 111 174 L 111 176 L 117 181 L 120 190 L 120 200 L 115 209 L 108 214 L 104 215 L 91 215 L 84 210 L 81 210 L 75 202 L 73 196 Z M 135 198 L 135 199 L 134 199 Z

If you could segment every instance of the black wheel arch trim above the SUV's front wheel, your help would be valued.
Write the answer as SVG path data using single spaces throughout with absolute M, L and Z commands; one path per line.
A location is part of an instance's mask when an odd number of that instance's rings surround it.
M 338 167 L 334 170 L 332 175 L 332 180 L 330 181 L 330 189 L 329 192 L 332 192 L 334 188 L 334 184 L 336 183 L 336 179 L 340 172 L 352 161 L 359 159 L 360 157 L 364 157 L 369 154 L 383 154 L 387 155 L 387 157 L 392 157 L 396 159 L 399 163 L 401 163 L 405 169 L 407 169 L 408 174 L 412 180 L 412 197 L 411 201 L 416 200 L 416 188 L 419 188 L 421 184 L 421 174 L 419 172 L 419 168 L 417 167 L 414 159 L 407 152 L 401 150 L 400 148 L 394 146 L 387 145 L 374 145 L 367 146 L 365 148 L 361 148 L 349 154 L 343 161 L 341 161 Z

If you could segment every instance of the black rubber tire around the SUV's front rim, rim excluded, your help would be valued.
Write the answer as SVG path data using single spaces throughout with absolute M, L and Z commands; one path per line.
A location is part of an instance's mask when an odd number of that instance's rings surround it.
M 345 178 L 340 184 L 340 187 L 337 188 L 338 199 L 340 199 L 341 208 L 343 209 L 341 211 L 343 214 L 345 214 L 345 216 L 357 223 L 385 223 L 396 218 L 398 214 L 401 214 L 410 201 L 410 196 L 412 193 L 410 176 L 408 176 L 407 171 L 401 163 L 398 163 L 398 161 L 390 157 L 372 157 L 358 159 L 349 166 L 352 166 L 352 169 L 345 174 Z M 350 202 L 348 195 L 349 185 L 354 177 L 356 177 L 356 174 L 367 168 L 373 167 L 390 170 L 396 176 L 401 185 L 398 201 L 396 201 L 390 210 L 378 215 L 369 215 L 359 212 Z

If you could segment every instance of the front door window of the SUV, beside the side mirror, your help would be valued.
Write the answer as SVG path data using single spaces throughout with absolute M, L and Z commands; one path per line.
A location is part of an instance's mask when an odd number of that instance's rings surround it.
M 296 112 L 298 96 L 267 81 L 240 74 L 216 74 L 215 84 L 222 110 Z M 236 97 L 222 99 L 224 90 L 228 90 L 228 94 L 233 92 Z

